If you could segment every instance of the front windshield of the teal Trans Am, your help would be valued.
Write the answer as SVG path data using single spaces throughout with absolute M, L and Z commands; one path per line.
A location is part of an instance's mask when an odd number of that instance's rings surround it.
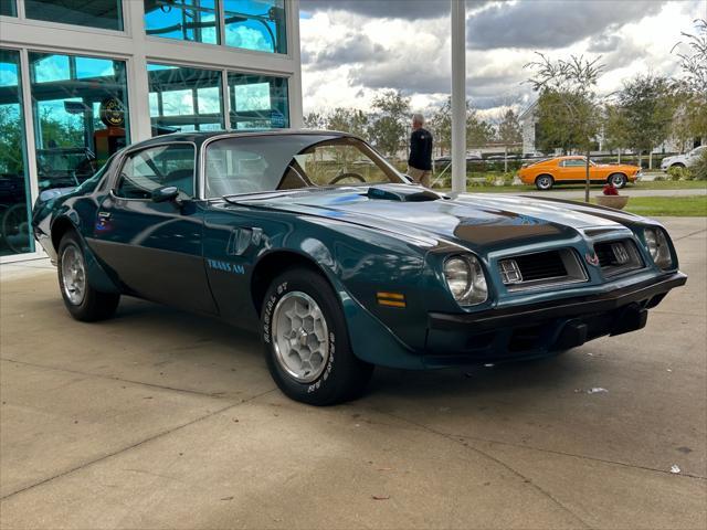
M 404 180 L 367 144 L 350 137 L 232 137 L 207 147 L 207 198 Z

